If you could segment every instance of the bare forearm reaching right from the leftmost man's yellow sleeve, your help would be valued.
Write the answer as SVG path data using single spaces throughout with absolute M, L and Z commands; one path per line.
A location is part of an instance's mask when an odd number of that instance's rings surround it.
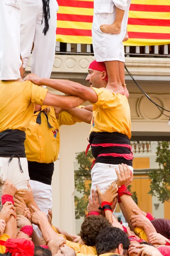
M 53 93 L 47 93 L 43 105 L 55 106 L 63 109 L 75 108 L 82 105 L 85 100 L 77 96 L 62 96 Z

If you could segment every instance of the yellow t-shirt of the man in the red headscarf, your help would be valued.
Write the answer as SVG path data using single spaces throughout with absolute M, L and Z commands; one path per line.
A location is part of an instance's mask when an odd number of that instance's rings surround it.
M 93 105 L 91 132 L 119 132 L 131 138 L 130 107 L 126 96 L 106 88 L 94 88 L 98 100 Z

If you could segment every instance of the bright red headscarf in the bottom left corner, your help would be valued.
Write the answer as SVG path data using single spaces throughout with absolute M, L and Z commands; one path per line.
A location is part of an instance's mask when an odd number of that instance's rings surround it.
M 5 253 L 9 252 L 12 256 L 34 256 L 34 243 L 24 238 L 0 240 L 0 245 L 5 246 Z

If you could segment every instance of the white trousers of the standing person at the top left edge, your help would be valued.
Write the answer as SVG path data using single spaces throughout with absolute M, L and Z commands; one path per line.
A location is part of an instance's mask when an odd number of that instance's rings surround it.
M 20 78 L 20 0 L 0 0 L 0 80 Z

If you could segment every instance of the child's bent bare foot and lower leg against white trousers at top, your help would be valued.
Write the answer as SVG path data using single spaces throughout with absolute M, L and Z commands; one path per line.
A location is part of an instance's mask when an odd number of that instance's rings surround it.
M 103 33 L 109 34 L 119 34 L 121 31 L 122 20 L 125 11 L 116 7 L 116 17 L 114 22 L 111 25 L 103 24 L 100 26 L 100 29 Z

